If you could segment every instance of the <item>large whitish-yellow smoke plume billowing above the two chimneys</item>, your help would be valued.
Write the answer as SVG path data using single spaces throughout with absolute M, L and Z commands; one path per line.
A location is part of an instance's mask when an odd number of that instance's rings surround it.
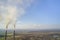
M 26 8 L 33 0 L 0 0 L 0 15 L 6 25 L 18 20 L 18 16 L 24 15 Z

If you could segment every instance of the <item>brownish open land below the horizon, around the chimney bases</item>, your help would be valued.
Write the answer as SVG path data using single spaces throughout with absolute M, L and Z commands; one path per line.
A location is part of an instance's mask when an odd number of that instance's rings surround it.
M 0 37 L 0 40 L 4 40 L 4 37 Z M 7 40 L 13 40 L 13 35 L 8 34 Z M 60 40 L 60 32 L 16 33 L 15 40 Z

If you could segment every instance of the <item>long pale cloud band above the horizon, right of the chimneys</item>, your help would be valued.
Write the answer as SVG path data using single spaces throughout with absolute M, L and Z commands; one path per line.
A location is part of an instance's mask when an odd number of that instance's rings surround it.
M 60 24 L 24 24 L 22 22 L 18 22 L 16 24 L 16 29 L 35 29 L 35 30 L 44 30 L 44 29 L 60 29 Z

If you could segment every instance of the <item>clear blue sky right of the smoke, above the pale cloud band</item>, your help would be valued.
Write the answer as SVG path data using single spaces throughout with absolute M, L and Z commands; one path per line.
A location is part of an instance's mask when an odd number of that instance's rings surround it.
M 25 23 L 60 24 L 60 0 L 36 0 L 21 19 Z

